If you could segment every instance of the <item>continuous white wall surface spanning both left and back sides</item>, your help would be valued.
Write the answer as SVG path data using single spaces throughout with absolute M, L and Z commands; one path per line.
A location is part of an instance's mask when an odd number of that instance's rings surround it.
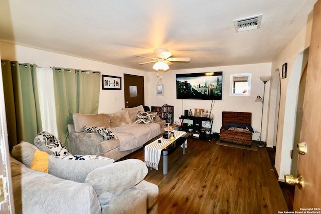
M 255 103 L 255 98 L 263 96 L 263 82 L 260 76 L 270 76 L 271 63 L 234 65 L 223 67 L 211 67 L 201 69 L 170 70 L 162 75 L 164 84 L 164 96 L 156 96 L 156 85 L 158 78 L 155 72 L 144 72 L 135 69 L 110 65 L 92 60 L 57 54 L 39 49 L 28 48 L 8 43 L 0 42 L 0 52 L 3 59 L 19 61 L 20 63 L 35 63 L 41 67 L 63 67 L 75 69 L 88 69 L 100 71 L 101 74 L 122 77 L 122 90 L 101 90 L 99 99 L 99 113 L 111 113 L 124 108 L 123 74 L 134 74 L 144 76 L 145 84 L 145 105 L 162 106 L 169 104 L 174 106 L 175 120 L 184 114 L 184 109 L 203 108 L 210 111 L 211 100 L 182 100 L 176 99 L 176 74 L 200 73 L 223 71 L 223 95 L 222 100 L 216 100 L 212 113 L 214 114 L 213 132 L 219 132 L 222 125 L 222 111 L 243 111 L 252 112 L 252 126 L 260 131 L 262 104 Z M 229 96 L 230 74 L 252 73 L 251 96 L 239 97 Z M 149 77 L 149 81 L 148 81 Z M 262 140 L 265 141 L 265 130 L 267 122 L 267 104 L 269 98 L 269 82 L 266 84 L 265 105 L 263 113 Z M 100 86 L 101 87 L 101 86 Z M 253 134 L 253 139 L 257 140 L 259 134 Z M 268 142 L 269 143 L 269 142 Z

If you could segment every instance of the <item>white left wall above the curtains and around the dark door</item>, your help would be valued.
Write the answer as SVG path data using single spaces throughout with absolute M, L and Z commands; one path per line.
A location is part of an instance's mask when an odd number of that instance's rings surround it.
M 100 71 L 101 74 L 104 75 L 118 76 L 121 77 L 122 89 L 124 73 L 144 76 L 145 84 L 147 84 L 147 72 L 135 69 L 42 51 L 24 46 L 12 45 L 4 42 L 0 42 L 0 52 L 2 59 L 18 61 L 19 63 L 34 63 L 40 67 L 55 66 L 82 70 L 94 70 Z M 147 87 L 145 87 L 145 95 L 148 95 Z M 100 90 L 98 112 L 111 113 L 119 111 L 121 108 L 124 108 L 124 102 L 123 90 Z M 148 96 L 146 96 L 145 102 L 148 103 Z

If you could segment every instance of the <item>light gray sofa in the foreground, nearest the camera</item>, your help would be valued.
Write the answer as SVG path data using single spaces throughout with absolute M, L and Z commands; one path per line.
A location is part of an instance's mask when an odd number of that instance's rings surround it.
M 101 166 L 101 160 L 57 159 L 41 151 L 45 173 L 31 169 L 42 159 L 37 149 L 21 142 L 10 157 L 16 213 L 157 213 L 158 187 L 143 180 L 148 169 L 141 160 L 107 159 Z

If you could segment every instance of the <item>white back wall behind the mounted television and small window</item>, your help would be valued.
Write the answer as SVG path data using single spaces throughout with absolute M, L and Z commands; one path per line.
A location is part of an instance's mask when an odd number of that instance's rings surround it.
M 201 73 L 201 72 L 216 72 L 223 71 L 223 94 L 222 100 L 216 100 L 212 113 L 214 114 L 213 132 L 220 132 L 222 126 L 222 111 L 240 111 L 252 112 L 252 126 L 255 130 L 260 131 L 261 126 L 261 112 L 262 103 L 255 103 L 255 98 L 259 95 L 263 97 L 263 82 L 259 79 L 260 76 L 270 76 L 271 63 L 250 64 L 250 65 L 235 65 L 223 67 L 211 67 L 200 69 L 187 69 L 187 70 L 170 70 L 166 73 L 160 72 L 162 75 L 162 82 L 164 84 L 164 96 L 155 96 L 156 85 L 159 80 L 155 72 L 148 73 L 150 82 L 148 84 L 149 91 L 149 105 L 162 106 L 164 104 L 174 106 L 174 118 L 179 121 L 179 117 L 184 115 L 185 109 L 203 108 L 209 110 L 211 107 L 211 100 L 182 100 L 176 99 L 176 74 L 186 73 Z M 237 73 L 252 73 L 252 90 L 251 96 L 229 96 L 230 75 Z M 266 130 L 266 115 L 267 105 L 269 98 L 269 82 L 266 83 L 265 89 L 265 104 L 263 112 L 263 125 L 262 125 L 262 140 L 265 141 Z M 253 139 L 257 140 L 259 134 L 253 134 Z M 273 143 L 273 142 L 272 142 Z

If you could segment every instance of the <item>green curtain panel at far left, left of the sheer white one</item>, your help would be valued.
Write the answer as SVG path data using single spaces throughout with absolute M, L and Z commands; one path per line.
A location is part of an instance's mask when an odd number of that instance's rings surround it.
M 34 143 L 42 127 L 34 72 L 36 66 L 2 60 L 10 149 L 20 141 Z

